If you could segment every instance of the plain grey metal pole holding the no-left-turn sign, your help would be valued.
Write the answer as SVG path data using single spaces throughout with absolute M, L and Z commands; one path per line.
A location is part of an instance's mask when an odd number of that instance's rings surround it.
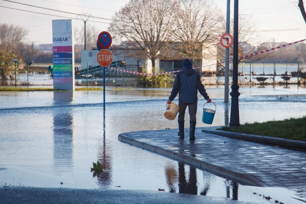
M 227 0 L 226 9 L 226 33 L 230 33 L 230 0 Z M 229 102 L 229 79 L 230 79 L 230 48 L 225 48 L 225 82 L 224 82 L 224 103 Z

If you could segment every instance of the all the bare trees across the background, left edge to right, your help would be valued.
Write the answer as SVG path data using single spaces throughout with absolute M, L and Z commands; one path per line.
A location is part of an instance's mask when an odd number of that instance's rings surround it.
M 302 0 L 299 0 L 298 6 L 304 17 Z M 155 66 L 157 58 L 210 58 L 210 55 L 215 55 L 215 45 L 219 44 L 219 38 L 225 30 L 225 19 L 221 14 L 213 0 L 130 0 L 114 15 L 109 32 L 112 33 L 114 44 L 126 48 L 129 54 L 136 57 L 151 59 L 152 66 Z M 240 56 L 268 48 L 264 44 L 257 47 L 249 44 L 250 41 L 256 42 L 254 28 L 250 19 L 239 16 Z M 75 42 L 78 44 L 75 46 L 76 59 L 80 58 L 80 51 L 83 49 L 83 29 L 76 28 L 74 33 Z M 13 70 L 13 58 L 17 58 L 19 64 L 29 59 L 52 59 L 52 55 L 39 52 L 33 44 L 23 42 L 27 33 L 25 28 L 0 24 L 2 79 L 6 79 L 10 70 Z M 94 26 L 87 26 L 86 47 L 95 47 L 98 33 Z M 304 45 L 297 45 L 295 49 L 300 50 L 301 57 L 305 57 Z M 205 56 L 202 56 L 203 50 Z M 217 47 L 217 53 L 218 59 L 222 61 L 224 48 Z M 265 58 L 268 54 L 260 57 Z M 258 60 L 258 57 L 252 60 Z

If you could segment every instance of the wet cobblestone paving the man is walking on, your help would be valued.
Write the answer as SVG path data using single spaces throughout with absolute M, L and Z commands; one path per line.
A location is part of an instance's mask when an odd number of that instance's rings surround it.
M 306 153 L 277 146 L 248 142 L 201 132 L 196 128 L 196 140 L 177 136 L 177 129 L 130 132 L 125 135 L 185 153 L 226 168 L 250 173 L 271 187 L 285 187 L 306 200 Z

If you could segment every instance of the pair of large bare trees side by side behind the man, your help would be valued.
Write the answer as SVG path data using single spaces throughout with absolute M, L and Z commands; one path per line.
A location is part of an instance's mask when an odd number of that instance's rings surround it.
M 224 30 L 211 0 L 131 0 L 113 20 L 109 31 L 114 42 L 139 50 L 134 54 L 151 59 L 152 66 L 157 58 L 194 60 L 203 49 L 209 53 Z

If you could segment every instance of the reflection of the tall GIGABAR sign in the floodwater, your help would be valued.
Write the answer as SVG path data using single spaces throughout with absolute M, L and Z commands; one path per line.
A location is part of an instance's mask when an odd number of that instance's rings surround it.
M 69 104 L 73 92 L 53 92 L 54 106 Z M 53 166 L 56 169 L 73 167 L 73 115 L 71 108 L 54 108 L 53 113 Z

